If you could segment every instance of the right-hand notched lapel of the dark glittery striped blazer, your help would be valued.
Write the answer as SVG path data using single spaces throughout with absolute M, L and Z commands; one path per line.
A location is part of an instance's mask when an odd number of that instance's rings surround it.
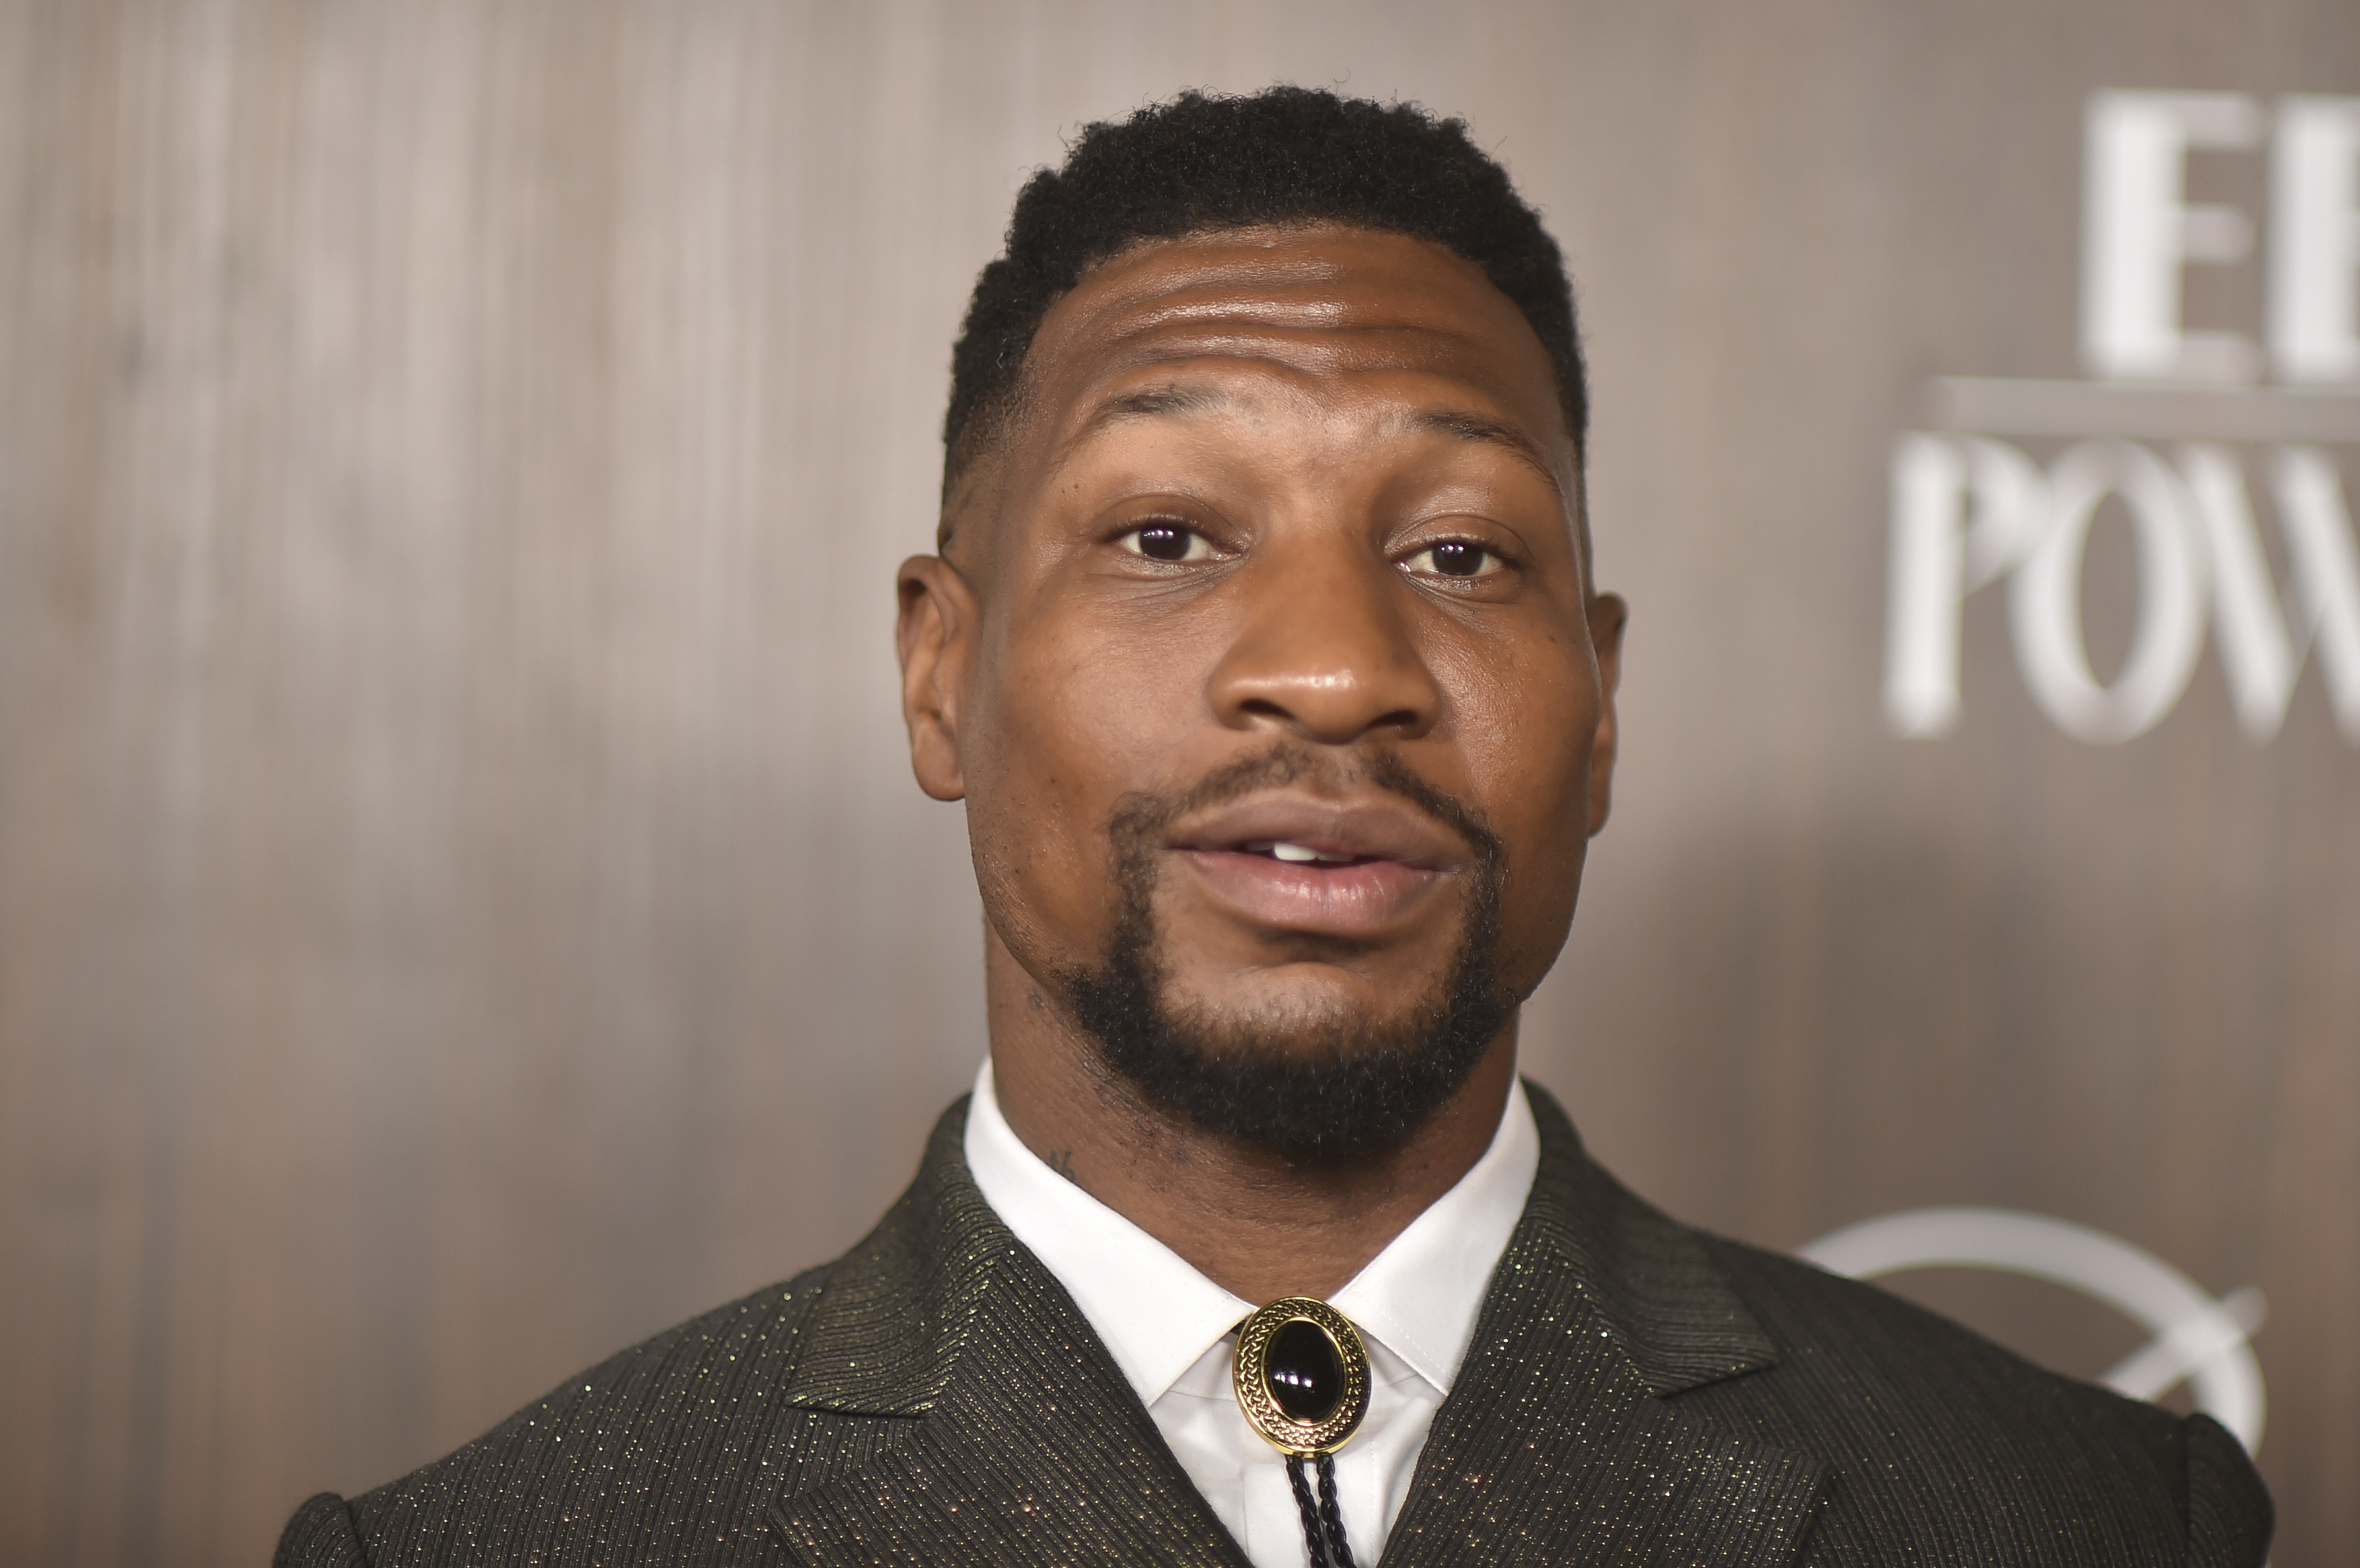
M 1829 1469 L 1680 1412 L 1777 1363 L 1699 1238 L 1532 1089 L 1541 1172 L 1435 1415 L 1385 1566 L 1794 1561 Z

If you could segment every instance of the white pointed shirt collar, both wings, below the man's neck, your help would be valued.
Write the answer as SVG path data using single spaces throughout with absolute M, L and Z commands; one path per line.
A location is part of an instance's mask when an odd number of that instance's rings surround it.
M 1253 1311 L 1027 1148 L 1001 1115 L 989 1059 L 975 1075 L 965 1153 L 984 1203 L 1067 1287 L 1140 1403 L 1163 1398 Z M 1539 1165 L 1541 1137 L 1520 1082 L 1484 1155 L 1333 1297 L 1336 1311 L 1437 1394 L 1458 1377 Z

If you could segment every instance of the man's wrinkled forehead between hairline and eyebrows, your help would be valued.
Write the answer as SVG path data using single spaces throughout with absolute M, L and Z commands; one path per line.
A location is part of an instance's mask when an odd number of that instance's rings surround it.
M 1572 493 L 1555 370 L 1532 325 L 1473 262 L 1399 233 L 1241 229 L 1135 245 L 1048 311 L 1024 382 L 1010 434 L 1036 462 L 1140 387 L 1277 382 L 1371 417 L 1428 406 L 1496 420 Z

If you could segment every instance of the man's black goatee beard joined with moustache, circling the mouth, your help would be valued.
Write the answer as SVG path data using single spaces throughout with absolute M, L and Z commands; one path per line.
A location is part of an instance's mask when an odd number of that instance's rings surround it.
M 1178 797 L 1130 797 L 1109 825 L 1116 922 L 1104 957 L 1062 976 L 1100 1056 L 1152 1106 L 1220 1137 L 1298 1160 L 1352 1160 L 1395 1148 L 1433 1118 L 1515 1016 L 1499 976 L 1499 835 L 1392 755 L 1359 764 L 1376 785 L 1437 818 L 1473 849 L 1458 946 L 1435 988 L 1407 1012 L 1366 1019 L 1329 1009 L 1218 1016 L 1166 995 L 1154 920 L 1166 828 L 1187 811 L 1258 788 L 1333 771 L 1305 747 L 1222 769 Z

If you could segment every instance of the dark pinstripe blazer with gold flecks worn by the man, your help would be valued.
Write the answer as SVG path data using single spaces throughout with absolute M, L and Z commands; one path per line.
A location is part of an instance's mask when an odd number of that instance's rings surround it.
M 2204 1417 L 1664 1219 L 1534 1089 L 1541 1170 L 1385 1563 L 2237 1563 L 2270 1500 Z M 1237 1544 L 984 1205 L 965 1101 L 838 1261 L 623 1351 L 288 1523 L 286 1568 L 1197 1563 Z

